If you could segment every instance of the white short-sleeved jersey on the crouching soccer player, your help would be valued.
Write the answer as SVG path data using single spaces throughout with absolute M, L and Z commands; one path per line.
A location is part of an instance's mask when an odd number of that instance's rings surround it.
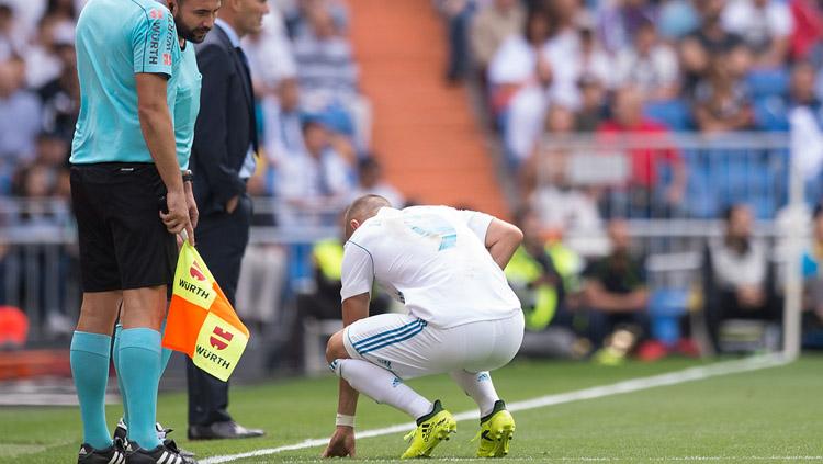
M 340 296 L 371 292 L 376 281 L 441 328 L 511 316 L 520 301 L 485 247 L 492 219 L 448 206 L 381 208 L 346 244 Z

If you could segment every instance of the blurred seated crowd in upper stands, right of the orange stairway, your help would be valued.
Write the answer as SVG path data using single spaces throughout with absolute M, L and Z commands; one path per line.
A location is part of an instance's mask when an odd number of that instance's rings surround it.
M 753 203 L 757 217 L 771 218 L 785 204 L 786 185 L 759 178 L 785 176 L 788 150 L 726 147 L 707 154 L 677 149 L 675 142 L 670 148 L 636 144 L 676 132 L 733 144 L 741 131 L 791 128 L 803 140 L 792 152 L 801 158 L 808 199 L 819 200 L 820 2 L 436 3 L 449 30 L 447 78 L 481 82 L 506 159 L 521 176 L 522 200 L 541 212 L 544 225 L 587 228 L 613 216 L 714 218 L 736 201 Z M 595 145 L 625 155 L 623 165 L 601 169 L 625 172 L 582 179 L 574 169 L 579 163 L 562 147 L 572 134 L 589 134 Z M 634 145 L 621 146 L 627 134 L 635 137 Z M 555 145 L 546 148 L 546 139 Z M 707 158 L 718 162 L 709 166 Z M 726 168 L 734 172 L 726 176 L 721 171 Z M 588 170 L 595 171 L 590 163 Z M 741 180 L 744 171 L 748 179 Z M 729 178 L 721 181 L 729 186 L 713 184 L 719 174 Z M 620 188 L 601 189 L 616 184 Z

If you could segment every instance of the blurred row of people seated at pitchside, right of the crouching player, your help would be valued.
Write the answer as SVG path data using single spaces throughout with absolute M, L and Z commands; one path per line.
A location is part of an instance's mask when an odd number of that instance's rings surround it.
M 525 240 L 506 275 L 526 316 L 522 355 L 617 365 L 630 355 L 653 361 L 782 348 L 786 273 L 801 263 L 783 256 L 781 238 L 758 233 L 745 204 L 724 212 L 719 235 L 676 256 L 676 268 L 689 269 L 679 285 L 666 283 L 670 270 L 652 263 L 661 256 L 623 219 L 608 222 L 608 251 L 599 257 L 546 238 L 533 211 L 522 210 L 517 223 Z M 800 342 L 821 349 L 823 205 L 807 224 Z

